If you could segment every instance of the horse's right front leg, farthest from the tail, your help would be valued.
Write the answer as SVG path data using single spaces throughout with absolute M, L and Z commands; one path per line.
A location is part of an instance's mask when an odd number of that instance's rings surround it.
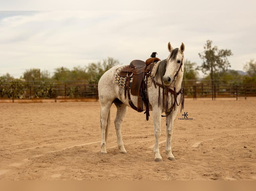
M 166 116 L 166 147 L 165 152 L 168 156 L 169 160 L 175 160 L 171 152 L 171 137 L 172 137 L 172 129 L 173 129 L 173 121 L 177 115 L 177 109 L 174 110 L 170 115 Z

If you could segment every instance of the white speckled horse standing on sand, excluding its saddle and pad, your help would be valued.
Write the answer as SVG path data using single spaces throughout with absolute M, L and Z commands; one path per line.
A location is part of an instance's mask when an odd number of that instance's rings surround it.
M 178 106 L 181 104 L 183 109 L 184 104 L 184 90 L 182 88 L 182 79 L 184 74 L 184 50 L 185 46 L 181 43 L 180 48 L 173 49 L 170 42 L 168 43 L 169 55 L 165 60 L 155 63 L 156 72 L 153 76 L 147 79 L 151 81 L 152 85 L 147 87 L 147 96 L 149 109 L 152 110 L 153 124 L 154 124 L 154 160 L 156 162 L 162 161 L 162 157 L 159 153 L 159 138 L 161 135 L 160 123 L 161 117 L 166 117 L 166 147 L 165 153 L 167 159 L 173 161 L 175 157 L 171 152 L 171 137 L 173 129 L 173 121 L 178 113 Z M 114 120 L 117 145 L 120 152 L 125 154 L 121 126 L 122 121 L 127 113 L 127 106 L 129 105 L 128 98 L 125 97 L 124 88 L 118 86 L 114 82 L 116 71 L 122 67 L 122 65 L 114 66 L 106 71 L 99 80 L 98 92 L 99 101 L 101 105 L 100 123 L 101 123 L 101 154 L 106 154 L 106 142 L 108 129 L 110 126 L 110 107 L 114 103 L 117 107 L 116 118 Z M 153 69 L 154 69 L 153 68 Z M 137 103 L 137 96 L 131 95 L 131 101 Z M 144 104 L 143 104 L 143 108 Z M 165 115 L 162 113 L 165 112 Z M 181 112 L 181 110 L 180 110 Z

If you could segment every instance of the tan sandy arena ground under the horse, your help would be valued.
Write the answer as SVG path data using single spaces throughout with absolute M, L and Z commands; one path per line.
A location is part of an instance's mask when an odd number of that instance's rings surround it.
M 128 108 L 117 147 L 113 104 L 107 154 L 100 154 L 100 104 L 0 103 L 0 180 L 256 180 L 256 98 L 185 99 L 165 154 L 165 118 L 154 162 L 152 115 Z M 151 112 L 152 113 L 152 112 Z

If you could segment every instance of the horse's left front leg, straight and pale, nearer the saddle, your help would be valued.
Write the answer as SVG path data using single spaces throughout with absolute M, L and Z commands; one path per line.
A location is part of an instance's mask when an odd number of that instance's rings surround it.
M 159 107 L 153 109 L 153 122 L 154 122 L 154 134 L 155 134 L 155 147 L 154 147 L 154 153 L 155 153 L 155 161 L 163 161 L 160 153 L 159 153 L 159 138 L 161 135 L 161 110 Z

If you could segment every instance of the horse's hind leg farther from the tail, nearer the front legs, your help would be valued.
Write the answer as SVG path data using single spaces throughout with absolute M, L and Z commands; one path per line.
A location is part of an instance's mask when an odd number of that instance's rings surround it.
M 117 136 L 117 145 L 118 148 L 120 149 L 120 152 L 125 154 L 126 150 L 124 148 L 124 143 L 122 139 L 122 134 L 121 134 L 121 126 L 123 122 L 123 118 L 125 117 L 125 114 L 127 112 L 127 106 L 122 103 L 119 99 L 116 99 L 114 101 L 117 112 L 116 112 L 116 118 L 115 118 L 115 128 L 116 128 L 116 136 Z

